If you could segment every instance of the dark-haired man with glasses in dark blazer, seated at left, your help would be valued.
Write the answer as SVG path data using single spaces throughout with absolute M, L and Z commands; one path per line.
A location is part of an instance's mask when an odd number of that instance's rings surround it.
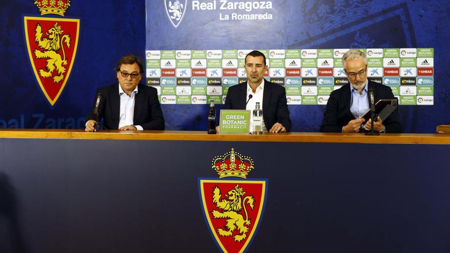
M 125 55 L 114 70 L 119 83 L 101 87 L 96 93 L 102 94 L 98 119 L 103 119 L 104 127 L 119 130 L 164 130 L 158 91 L 139 84 L 144 73 L 141 59 Z M 85 118 L 84 130 L 88 132 L 94 132 L 98 125 L 94 108 Z

